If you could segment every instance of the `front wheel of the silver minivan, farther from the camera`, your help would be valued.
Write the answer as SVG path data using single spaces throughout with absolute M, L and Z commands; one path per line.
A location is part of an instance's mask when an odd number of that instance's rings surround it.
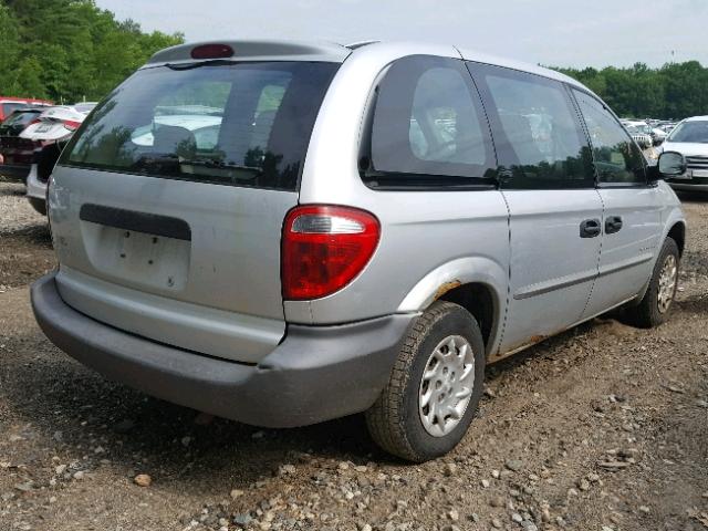
M 678 288 L 679 263 L 678 246 L 673 238 L 667 237 L 644 298 L 636 306 L 625 310 L 629 324 L 641 329 L 653 329 L 668 319 Z

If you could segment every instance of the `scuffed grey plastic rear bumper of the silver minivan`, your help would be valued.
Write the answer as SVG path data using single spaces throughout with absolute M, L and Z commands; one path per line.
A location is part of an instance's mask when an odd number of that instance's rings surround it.
M 254 426 L 316 424 L 371 407 L 388 381 L 415 314 L 335 326 L 290 325 L 257 365 L 205 356 L 139 337 L 73 310 L 55 273 L 32 285 L 42 331 L 104 376 L 175 404 Z

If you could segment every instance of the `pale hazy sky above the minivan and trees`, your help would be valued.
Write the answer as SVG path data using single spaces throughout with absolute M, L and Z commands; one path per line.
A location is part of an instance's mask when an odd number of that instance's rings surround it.
M 97 0 L 187 41 L 429 41 L 551 66 L 708 65 L 708 0 Z

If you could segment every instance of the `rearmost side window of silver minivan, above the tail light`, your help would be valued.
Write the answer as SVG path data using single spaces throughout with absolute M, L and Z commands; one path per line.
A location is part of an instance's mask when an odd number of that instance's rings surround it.
M 393 63 L 376 87 L 364 148 L 361 169 L 369 186 L 483 183 L 494 157 L 465 63 L 421 55 Z

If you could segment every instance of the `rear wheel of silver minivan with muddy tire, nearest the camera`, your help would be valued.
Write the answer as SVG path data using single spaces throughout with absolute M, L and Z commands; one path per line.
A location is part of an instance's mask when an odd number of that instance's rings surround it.
M 477 413 L 485 363 L 475 317 L 451 302 L 434 303 L 408 329 L 386 387 L 366 412 L 372 438 L 409 461 L 447 454 Z

